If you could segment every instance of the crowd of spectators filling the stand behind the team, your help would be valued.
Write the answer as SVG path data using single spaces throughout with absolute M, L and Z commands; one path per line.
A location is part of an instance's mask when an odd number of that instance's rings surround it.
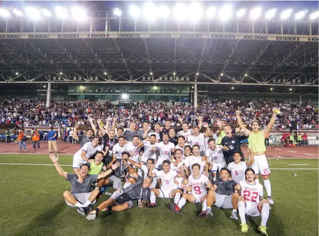
M 274 129 L 290 129 L 297 121 L 297 129 L 318 129 L 318 106 L 283 101 L 253 101 L 213 99 L 199 102 L 198 108 L 189 103 L 163 102 L 160 100 L 121 101 L 111 103 L 109 100 L 51 101 L 46 107 L 45 99 L 3 99 L 0 100 L 0 123 L 16 123 L 20 126 L 60 126 L 72 127 L 76 124 L 89 124 L 88 117 L 101 119 L 104 123 L 110 117 L 118 117 L 121 127 L 128 127 L 130 122 L 138 126 L 148 120 L 152 124 L 172 121 L 172 126 L 180 126 L 182 118 L 190 125 L 196 125 L 196 117 L 215 125 L 216 118 L 225 119 L 236 126 L 236 110 L 242 111 L 243 123 L 250 126 L 253 120 L 259 120 L 262 128 L 269 123 L 272 107 L 277 107 L 281 114 L 277 116 Z

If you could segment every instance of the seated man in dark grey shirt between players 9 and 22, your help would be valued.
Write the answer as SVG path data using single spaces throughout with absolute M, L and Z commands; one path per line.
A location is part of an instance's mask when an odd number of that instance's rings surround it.
M 230 178 L 230 171 L 224 167 L 220 169 L 221 178 L 214 181 L 211 190 L 207 194 L 207 216 L 213 216 L 212 204 L 219 208 L 233 209 L 230 219 L 238 221 L 238 197 L 240 190 L 239 184 Z

